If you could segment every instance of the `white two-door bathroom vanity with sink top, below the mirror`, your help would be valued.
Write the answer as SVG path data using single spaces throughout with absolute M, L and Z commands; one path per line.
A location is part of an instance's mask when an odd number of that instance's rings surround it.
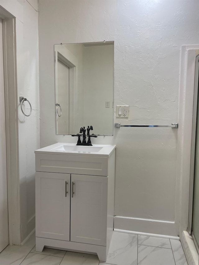
M 115 146 L 57 143 L 35 151 L 36 251 L 96 253 L 113 233 Z

